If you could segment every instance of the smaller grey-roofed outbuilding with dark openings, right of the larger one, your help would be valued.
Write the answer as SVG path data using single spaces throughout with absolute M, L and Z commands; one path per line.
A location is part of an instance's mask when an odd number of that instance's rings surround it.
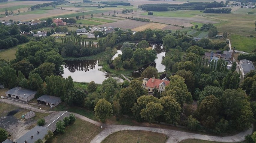
M 50 95 L 42 95 L 37 99 L 37 103 L 39 104 L 45 104 L 48 106 L 57 106 L 60 103 L 60 98 L 56 96 L 50 96 Z

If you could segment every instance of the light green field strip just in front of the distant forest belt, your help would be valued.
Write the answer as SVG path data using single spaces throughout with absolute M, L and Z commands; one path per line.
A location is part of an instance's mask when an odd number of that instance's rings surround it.
M 177 11 L 154 11 L 154 16 L 165 16 L 165 17 L 193 17 L 196 15 L 203 14 L 200 10 L 177 10 Z M 148 15 L 148 12 L 142 13 L 142 15 Z

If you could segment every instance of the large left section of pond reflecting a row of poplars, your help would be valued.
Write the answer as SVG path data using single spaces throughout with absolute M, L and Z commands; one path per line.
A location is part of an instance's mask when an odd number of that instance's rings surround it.
M 66 64 L 63 65 L 64 74 L 62 76 L 67 78 L 71 76 L 75 82 L 91 82 L 94 81 L 97 84 L 102 84 L 102 82 L 110 77 L 108 72 L 99 66 L 98 60 L 85 60 L 85 61 L 65 61 Z M 123 79 L 114 77 L 118 83 L 123 82 Z

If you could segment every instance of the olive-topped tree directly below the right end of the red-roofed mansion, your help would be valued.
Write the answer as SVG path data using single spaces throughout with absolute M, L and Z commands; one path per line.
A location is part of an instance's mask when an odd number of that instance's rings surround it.
M 160 104 L 163 106 L 163 116 L 169 124 L 177 125 L 180 120 L 181 106 L 171 96 L 160 98 Z

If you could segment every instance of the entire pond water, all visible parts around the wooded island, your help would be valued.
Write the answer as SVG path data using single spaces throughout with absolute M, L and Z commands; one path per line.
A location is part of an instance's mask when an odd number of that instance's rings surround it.
M 143 70 L 148 66 L 153 66 L 157 68 L 158 72 L 164 71 L 164 65 L 161 64 L 165 52 L 163 52 L 162 44 L 150 44 L 152 49 L 157 51 L 157 59 L 141 67 L 139 70 L 136 70 L 132 73 L 132 77 L 138 78 Z M 113 56 L 113 59 L 116 58 L 119 54 L 122 54 L 122 51 L 118 48 L 117 53 Z M 91 82 L 94 81 L 97 84 L 102 84 L 102 82 L 110 77 L 110 73 L 102 70 L 102 66 L 99 66 L 99 60 L 85 60 L 85 61 L 65 61 L 66 64 L 63 65 L 64 74 L 62 76 L 67 78 L 71 76 L 75 82 Z M 123 82 L 123 79 L 119 77 L 113 77 L 117 80 L 118 83 Z

